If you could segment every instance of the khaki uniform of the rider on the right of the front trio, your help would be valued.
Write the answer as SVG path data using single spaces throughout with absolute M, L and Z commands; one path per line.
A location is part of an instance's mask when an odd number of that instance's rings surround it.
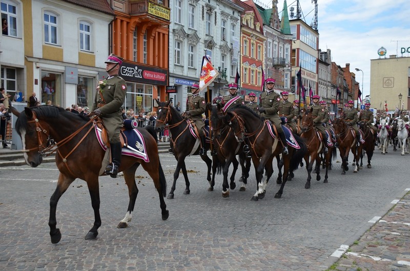
M 280 126 L 281 121 L 278 115 L 279 111 L 280 96 L 275 91 L 265 91 L 260 95 L 261 107 L 265 109 L 265 112 L 260 115 L 265 119 L 269 119 L 275 125 L 278 133 L 283 133 L 282 127 Z

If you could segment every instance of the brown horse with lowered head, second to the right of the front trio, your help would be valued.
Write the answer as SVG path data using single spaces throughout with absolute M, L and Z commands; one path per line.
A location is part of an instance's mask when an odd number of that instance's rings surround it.
M 359 158 L 363 149 L 363 144 L 360 143 L 359 147 L 356 147 L 356 136 L 353 134 L 354 131 L 342 118 L 335 119 L 332 124 L 335 129 L 337 143 L 339 144 L 340 158 L 342 158 L 342 175 L 345 175 L 346 171 L 349 169 L 347 166 L 347 159 L 351 150 L 355 161 L 355 170 L 353 172 L 357 173 L 359 171 Z

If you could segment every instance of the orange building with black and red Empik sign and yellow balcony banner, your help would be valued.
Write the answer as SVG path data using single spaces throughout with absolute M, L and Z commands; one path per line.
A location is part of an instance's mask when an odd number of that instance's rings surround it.
M 110 52 L 124 58 L 119 75 L 127 81 L 126 108 L 153 111 L 168 85 L 170 8 L 168 0 L 114 0 Z

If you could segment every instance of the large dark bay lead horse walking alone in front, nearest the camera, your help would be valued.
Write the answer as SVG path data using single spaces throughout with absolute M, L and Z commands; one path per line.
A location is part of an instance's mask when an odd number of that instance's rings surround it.
M 35 168 L 42 163 L 43 155 L 52 148 L 57 148 L 55 162 L 60 173 L 57 187 L 50 199 L 51 242 L 55 244 L 61 239 L 61 232 L 56 228 L 58 200 L 76 178 L 87 182 L 94 209 L 94 225 L 85 239 L 95 239 L 101 225 L 98 176 L 103 175 L 99 172 L 106 165 L 103 164 L 105 151 L 97 140 L 92 119 L 54 106 L 26 107 L 21 113 L 14 108 L 11 108 L 11 111 L 18 117 L 16 131 L 22 138 L 24 159 L 28 165 Z M 166 220 L 169 216 L 163 199 L 167 194 L 167 183 L 159 162 L 155 131 L 153 128 L 138 129 L 138 131 L 144 136 L 149 162 L 133 156 L 121 156 L 119 171 L 124 173 L 130 201 L 125 218 L 117 226 L 119 228 L 127 227 L 132 218 L 138 194 L 134 176 L 140 164 L 151 176 L 158 191 L 162 220 Z M 56 142 L 56 145 L 51 144 L 52 142 Z

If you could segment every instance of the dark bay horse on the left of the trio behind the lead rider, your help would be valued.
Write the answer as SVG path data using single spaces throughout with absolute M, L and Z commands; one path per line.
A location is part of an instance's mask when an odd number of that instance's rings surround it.
M 168 129 L 171 131 L 171 149 L 173 150 L 175 159 L 177 160 L 177 165 L 174 172 L 174 181 L 172 183 L 171 191 L 168 194 L 168 199 L 173 199 L 176 180 L 178 179 L 180 170 L 182 170 L 182 175 L 185 178 L 185 191 L 183 194 L 188 195 L 191 193 L 189 189 L 190 182 L 185 165 L 185 158 L 189 155 L 199 155 L 200 145 L 198 145 L 194 150 L 195 142 L 199 139 L 196 139 L 191 134 L 188 120 L 183 118 L 173 106 L 170 106 L 170 102 L 171 100 L 167 102 L 160 102 L 157 100 L 161 111 L 159 112 L 158 118 L 155 122 L 155 130 L 159 132 L 165 128 L 165 124 L 168 124 Z M 205 148 L 209 150 L 209 144 L 206 144 Z M 207 180 L 211 184 L 212 160 L 207 154 L 200 155 L 200 157 L 207 163 Z

